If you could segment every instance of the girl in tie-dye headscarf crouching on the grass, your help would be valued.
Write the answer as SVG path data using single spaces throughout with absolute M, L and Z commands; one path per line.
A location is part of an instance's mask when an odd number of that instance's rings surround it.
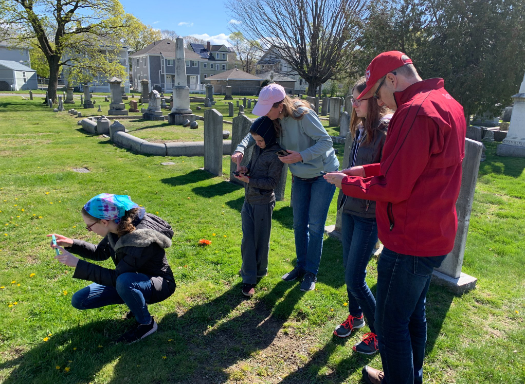
M 126 318 L 134 316 L 137 323 L 117 343 L 134 343 L 151 335 L 157 330 L 157 323 L 148 311 L 148 304 L 166 300 L 175 292 L 165 252 L 171 246 L 171 226 L 146 213 L 127 195 L 93 197 L 82 208 L 82 219 L 88 231 L 103 237 L 98 246 L 56 233 L 57 246 L 51 243 L 51 247 L 62 251 L 55 259 L 75 268 L 73 278 L 93 282 L 75 292 L 71 305 L 89 310 L 126 304 L 130 309 Z M 70 252 L 91 260 L 111 258 L 115 269 L 80 260 Z

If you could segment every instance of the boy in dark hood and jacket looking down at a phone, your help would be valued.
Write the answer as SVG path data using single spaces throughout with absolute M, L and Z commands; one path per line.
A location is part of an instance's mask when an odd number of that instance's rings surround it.
M 268 272 L 271 214 L 275 207 L 274 188 L 281 177 L 283 163 L 275 154 L 279 145 L 275 140 L 274 123 L 266 118 L 257 119 L 250 129 L 257 146 L 250 163 L 240 167 L 237 179 L 246 183 L 243 209 L 240 212 L 243 241 L 240 251 L 243 264 L 243 295 L 253 296 L 257 278 Z M 249 176 L 247 176 L 249 174 Z

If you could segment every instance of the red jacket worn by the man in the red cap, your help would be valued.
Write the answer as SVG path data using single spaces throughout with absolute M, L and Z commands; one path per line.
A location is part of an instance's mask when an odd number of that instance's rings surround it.
M 375 200 L 379 238 L 394 252 L 438 256 L 454 248 L 465 157 L 463 107 L 428 79 L 394 93 L 381 163 L 342 180 L 345 195 Z

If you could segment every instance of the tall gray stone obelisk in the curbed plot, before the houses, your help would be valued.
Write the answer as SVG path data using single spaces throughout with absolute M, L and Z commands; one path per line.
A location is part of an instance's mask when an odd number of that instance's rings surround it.
M 186 78 L 186 60 L 184 58 L 184 39 L 177 37 L 175 42 L 175 86 L 173 87 L 173 108 L 168 115 L 170 124 L 182 125 L 184 120 L 195 121 L 190 109 L 190 88 Z M 184 116 L 184 117 L 182 117 Z

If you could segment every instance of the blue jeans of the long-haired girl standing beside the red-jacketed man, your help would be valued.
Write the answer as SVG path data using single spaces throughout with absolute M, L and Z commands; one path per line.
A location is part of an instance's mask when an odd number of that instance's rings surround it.
M 348 311 L 352 316 L 364 314 L 371 332 L 375 333 L 375 298 L 366 284 L 366 265 L 377 243 L 375 218 L 342 214 L 343 267 Z

